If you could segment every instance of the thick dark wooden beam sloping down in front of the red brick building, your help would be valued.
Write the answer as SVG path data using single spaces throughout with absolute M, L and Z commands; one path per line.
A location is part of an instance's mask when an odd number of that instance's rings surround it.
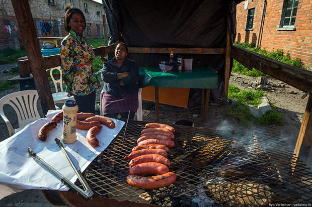
M 245 66 L 256 68 L 304 92 L 312 89 L 311 71 L 279 62 L 236 45 L 232 46 L 231 57 Z

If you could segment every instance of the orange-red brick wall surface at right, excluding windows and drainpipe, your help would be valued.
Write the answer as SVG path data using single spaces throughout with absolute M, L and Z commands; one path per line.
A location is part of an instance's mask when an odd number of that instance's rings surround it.
M 245 1 L 246 2 L 246 1 Z M 252 31 L 245 31 L 248 10 L 244 10 L 245 2 L 237 6 L 237 42 L 257 44 L 259 27 L 263 8 L 263 0 L 249 0 L 248 9 L 255 8 Z M 291 58 L 300 58 L 302 62 L 312 67 L 312 1 L 299 0 L 295 19 L 295 31 L 278 31 L 283 0 L 268 0 L 266 5 L 263 31 L 260 34 L 259 46 L 267 51 L 282 49 L 289 52 Z

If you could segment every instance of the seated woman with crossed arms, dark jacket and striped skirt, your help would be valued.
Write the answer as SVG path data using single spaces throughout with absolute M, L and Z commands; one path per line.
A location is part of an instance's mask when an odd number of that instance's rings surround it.
M 133 60 L 127 58 L 128 48 L 119 43 L 115 49 L 115 57 L 104 63 L 102 79 L 104 80 L 102 111 L 106 117 L 133 120 L 138 108 L 139 70 Z

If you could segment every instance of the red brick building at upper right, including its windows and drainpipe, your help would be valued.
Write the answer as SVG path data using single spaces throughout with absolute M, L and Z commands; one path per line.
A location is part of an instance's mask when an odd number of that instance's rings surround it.
M 312 67 L 311 10 L 310 0 L 246 0 L 237 6 L 236 41 L 281 49 Z

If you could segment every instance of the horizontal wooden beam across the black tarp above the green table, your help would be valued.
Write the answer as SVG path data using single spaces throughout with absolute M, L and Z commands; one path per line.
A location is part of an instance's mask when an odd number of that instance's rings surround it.
M 129 47 L 129 53 L 225 54 L 225 48 Z

